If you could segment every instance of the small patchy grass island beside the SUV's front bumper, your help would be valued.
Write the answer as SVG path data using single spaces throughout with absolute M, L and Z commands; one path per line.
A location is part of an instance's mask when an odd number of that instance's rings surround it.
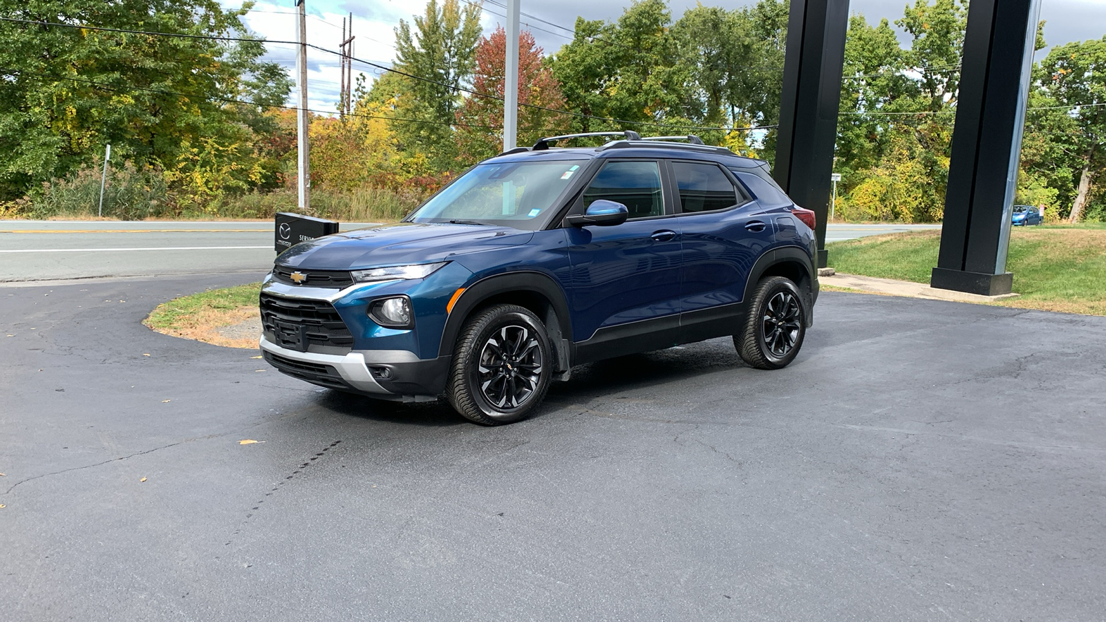
M 184 339 L 230 348 L 257 348 L 260 334 L 236 329 L 258 318 L 261 283 L 213 289 L 158 304 L 143 323 Z

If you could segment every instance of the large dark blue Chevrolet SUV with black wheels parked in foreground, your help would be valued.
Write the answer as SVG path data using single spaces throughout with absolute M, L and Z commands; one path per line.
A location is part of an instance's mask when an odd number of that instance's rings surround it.
M 780 369 L 813 323 L 814 224 L 766 163 L 696 136 L 543 138 L 401 222 L 278 256 L 261 352 L 320 386 L 445 395 L 484 425 L 524 418 L 574 365 L 681 343 L 732 336 Z

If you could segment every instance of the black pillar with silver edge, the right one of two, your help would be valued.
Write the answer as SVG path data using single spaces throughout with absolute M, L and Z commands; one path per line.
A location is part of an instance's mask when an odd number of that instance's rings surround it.
M 1025 125 L 1040 0 L 971 0 L 941 251 L 930 286 L 998 296 Z

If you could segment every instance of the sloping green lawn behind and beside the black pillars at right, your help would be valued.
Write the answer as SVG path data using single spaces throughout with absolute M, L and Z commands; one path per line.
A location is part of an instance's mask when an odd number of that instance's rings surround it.
M 940 236 L 910 231 L 834 242 L 830 265 L 845 274 L 928 283 Z M 1106 315 L 1106 224 L 1016 228 L 1006 270 L 1021 296 L 995 304 Z

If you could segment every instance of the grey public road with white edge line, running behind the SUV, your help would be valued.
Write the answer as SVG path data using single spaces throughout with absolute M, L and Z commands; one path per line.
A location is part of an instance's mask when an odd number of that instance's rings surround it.
M 826 240 L 939 227 L 830 225 Z M 0 220 L 0 282 L 264 272 L 274 255 L 269 221 Z

